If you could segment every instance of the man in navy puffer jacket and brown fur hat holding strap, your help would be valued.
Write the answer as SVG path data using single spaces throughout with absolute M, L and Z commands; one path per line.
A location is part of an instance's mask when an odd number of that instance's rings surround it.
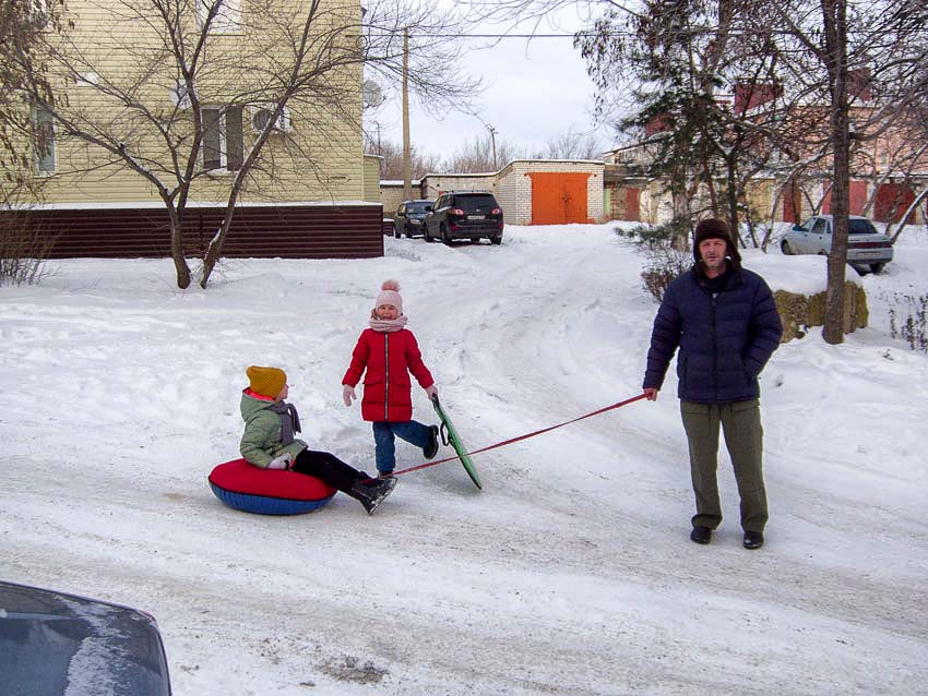
M 664 293 L 654 320 L 644 393 L 657 398 L 674 352 L 697 514 L 690 539 L 709 543 L 722 521 L 716 480 L 719 423 L 741 497 L 746 549 L 763 545 L 768 521 L 758 375 L 780 345 L 773 295 L 741 268 L 728 225 L 706 219 L 693 235 L 695 264 Z

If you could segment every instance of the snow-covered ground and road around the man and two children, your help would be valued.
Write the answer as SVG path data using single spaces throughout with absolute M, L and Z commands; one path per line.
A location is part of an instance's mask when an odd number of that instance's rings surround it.
M 745 263 L 824 287 L 823 259 Z M 869 328 L 768 365 L 761 551 L 724 446 L 726 519 L 688 540 L 673 373 L 656 403 L 478 455 L 483 492 L 456 463 L 403 476 L 373 517 L 210 491 L 252 363 L 287 370 L 311 446 L 373 469 L 340 383 L 384 278 L 472 448 L 639 394 L 641 265 L 610 226 L 510 226 L 502 247 L 229 261 L 206 291 L 169 261 L 103 260 L 0 288 L 0 578 L 150 611 L 179 696 L 928 694 L 928 357 L 889 335 L 897 298 L 928 291 L 924 228 L 860 279 Z

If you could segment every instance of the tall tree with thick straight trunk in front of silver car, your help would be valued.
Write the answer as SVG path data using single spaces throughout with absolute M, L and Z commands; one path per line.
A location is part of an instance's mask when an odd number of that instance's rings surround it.
M 844 279 L 847 261 L 849 180 L 852 171 L 852 105 L 861 96 L 854 79 L 862 75 L 875 106 L 855 123 L 855 140 L 877 137 L 895 128 L 901 117 L 925 103 L 928 55 L 924 3 L 864 3 L 847 0 L 796 0 L 771 3 L 780 27 L 776 40 L 794 93 L 825 105 L 829 111 L 828 155 L 831 158 L 831 206 L 834 233 L 828 264 L 828 296 L 822 335 L 844 340 Z M 915 149 L 915 147 L 913 147 Z

